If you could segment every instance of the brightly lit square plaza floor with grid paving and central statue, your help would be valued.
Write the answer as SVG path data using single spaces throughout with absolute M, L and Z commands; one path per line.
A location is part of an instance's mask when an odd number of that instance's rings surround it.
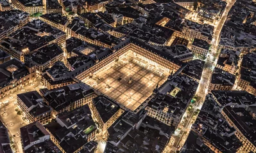
M 129 62 L 118 68 L 103 68 L 97 77 L 85 79 L 84 82 L 126 108 L 135 110 L 152 94 L 157 84 L 162 85 L 165 80 Z

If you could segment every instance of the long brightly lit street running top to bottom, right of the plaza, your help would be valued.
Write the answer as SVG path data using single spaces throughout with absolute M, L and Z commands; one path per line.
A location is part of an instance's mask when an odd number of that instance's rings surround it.
M 198 105 L 193 105 L 193 111 L 191 113 L 191 116 L 189 116 L 189 120 L 187 120 L 187 124 L 182 125 L 182 121 L 178 125 L 178 128 L 176 129 L 175 133 L 179 133 L 177 135 L 173 135 L 170 140 L 175 140 L 175 141 L 169 141 L 169 144 L 167 145 L 165 152 L 176 152 L 176 150 L 179 150 L 182 148 L 182 146 L 185 143 L 185 140 L 187 139 L 187 136 L 189 135 L 189 132 L 191 130 L 191 126 L 194 123 L 197 114 L 193 116 L 194 111 L 201 108 L 203 105 L 203 101 L 205 96 L 208 94 L 208 87 L 209 87 L 209 81 L 210 77 L 212 75 L 212 69 L 215 67 L 216 61 L 218 61 L 219 53 L 218 53 L 218 44 L 219 44 L 219 37 L 221 34 L 221 29 L 225 23 L 226 17 L 228 15 L 228 12 L 230 11 L 230 8 L 234 5 L 235 0 L 230 0 L 227 1 L 226 9 L 219 20 L 218 24 L 216 25 L 216 28 L 214 29 L 214 34 L 213 34 L 213 41 L 212 41 L 212 52 L 209 54 L 209 57 L 205 61 L 205 66 L 203 68 L 203 73 L 201 76 L 200 84 L 198 85 L 198 89 L 196 91 L 195 95 L 198 95 L 200 97 L 200 101 L 198 101 Z M 214 57 L 214 54 L 216 55 L 216 58 Z M 182 119 L 186 117 L 189 114 L 188 109 L 184 113 Z M 182 129 L 182 130 L 180 130 Z

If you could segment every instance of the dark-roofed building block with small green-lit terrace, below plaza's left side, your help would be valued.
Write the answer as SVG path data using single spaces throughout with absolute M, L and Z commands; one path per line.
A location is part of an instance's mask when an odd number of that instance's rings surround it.
M 56 120 L 44 126 L 51 140 L 62 152 L 81 152 L 96 137 L 96 124 L 88 105 L 58 114 Z

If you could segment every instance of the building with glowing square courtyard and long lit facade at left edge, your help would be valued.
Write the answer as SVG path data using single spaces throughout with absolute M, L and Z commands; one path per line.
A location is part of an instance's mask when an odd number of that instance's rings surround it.
M 22 89 L 36 78 L 35 66 L 28 66 L 17 59 L 0 64 L 0 98 Z

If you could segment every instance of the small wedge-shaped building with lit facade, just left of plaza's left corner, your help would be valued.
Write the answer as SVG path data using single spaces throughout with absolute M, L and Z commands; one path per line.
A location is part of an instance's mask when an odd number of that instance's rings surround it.
M 65 64 L 57 61 L 51 68 L 42 71 L 42 84 L 49 90 L 74 84 L 74 79 L 69 76 L 69 73 Z

